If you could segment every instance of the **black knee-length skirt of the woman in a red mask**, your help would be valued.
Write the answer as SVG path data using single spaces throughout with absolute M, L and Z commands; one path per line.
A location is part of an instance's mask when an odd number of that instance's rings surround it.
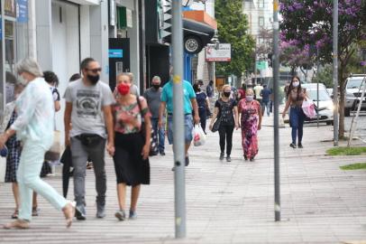
M 142 159 L 143 145 L 145 142 L 140 133 L 115 133 L 113 158 L 117 183 L 150 184 L 149 158 Z

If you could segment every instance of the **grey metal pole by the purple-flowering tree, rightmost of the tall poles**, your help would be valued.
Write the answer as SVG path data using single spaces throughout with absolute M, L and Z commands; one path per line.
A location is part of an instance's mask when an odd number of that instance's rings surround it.
M 338 146 L 338 0 L 333 2 L 333 94 L 334 94 L 334 146 Z

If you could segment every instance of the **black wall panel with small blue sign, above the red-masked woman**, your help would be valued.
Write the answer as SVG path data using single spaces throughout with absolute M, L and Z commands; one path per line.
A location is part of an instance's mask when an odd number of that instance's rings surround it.
M 130 39 L 109 38 L 109 87 L 114 90 L 116 77 L 122 72 L 130 72 Z

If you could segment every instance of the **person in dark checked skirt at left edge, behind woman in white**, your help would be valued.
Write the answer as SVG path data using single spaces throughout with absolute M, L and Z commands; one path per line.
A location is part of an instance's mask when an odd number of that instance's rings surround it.
M 22 93 L 24 86 L 21 83 L 16 83 L 14 87 L 14 99 L 18 99 Z M 17 112 L 15 110 L 15 101 L 6 104 L 3 114 L 3 120 L 1 122 L 1 133 L 4 133 L 6 129 L 11 127 L 17 118 Z M 22 146 L 21 142 L 17 140 L 16 135 L 9 138 L 6 142 L 8 154 L 6 156 L 6 171 L 5 171 L 5 183 L 12 183 L 12 190 L 14 195 L 15 210 L 12 214 L 12 219 L 17 219 L 19 214 L 19 186 L 16 182 L 16 172 L 19 167 L 21 159 Z

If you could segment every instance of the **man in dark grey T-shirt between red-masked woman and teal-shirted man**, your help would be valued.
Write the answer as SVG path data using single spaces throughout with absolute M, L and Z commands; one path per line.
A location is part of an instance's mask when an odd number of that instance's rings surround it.
M 160 155 L 165 155 L 165 127 L 158 127 L 162 92 L 160 85 L 160 77 L 154 76 L 151 80 L 151 88 L 145 90 L 143 97 L 146 99 L 151 112 L 151 125 L 157 140 L 155 143 L 158 145 Z

